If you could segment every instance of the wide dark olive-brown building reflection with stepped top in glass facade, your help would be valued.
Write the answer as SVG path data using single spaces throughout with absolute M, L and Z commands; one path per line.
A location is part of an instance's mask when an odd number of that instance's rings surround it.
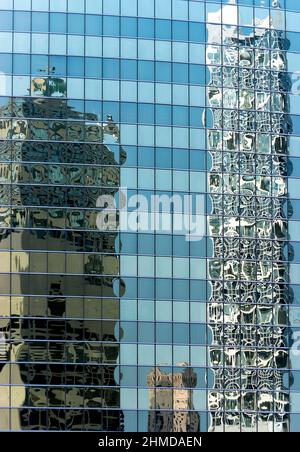
M 2 373 L 18 387 L 0 429 L 122 430 L 117 234 L 97 230 L 96 203 L 117 192 L 125 153 L 111 118 L 86 120 L 59 97 L 63 80 L 32 89 L 54 97 L 16 98 L 2 111 L 14 118 L 2 121 L 0 144 L 12 160 L 1 164 L 0 284 L 11 293 Z

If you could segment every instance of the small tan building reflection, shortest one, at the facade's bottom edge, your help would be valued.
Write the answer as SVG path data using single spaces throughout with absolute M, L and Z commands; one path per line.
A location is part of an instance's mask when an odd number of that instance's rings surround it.
M 148 375 L 149 432 L 198 432 L 200 420 L 193 411 L 193 388 L 197 376 L 186 367 L 182 372 L 166 373 L 156 367 Z

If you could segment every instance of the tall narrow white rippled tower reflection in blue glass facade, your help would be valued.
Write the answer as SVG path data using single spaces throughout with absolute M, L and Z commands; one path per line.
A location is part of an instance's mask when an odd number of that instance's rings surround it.
M 226 12 L 224 6 L 225 23 Z M 209 396 L 211 430 L 286 431 L 285 305 L 290 294 L 289 268 L 283 262 L 288 238 L 284 134 L 291 123 L 289 82 L 279 71 L 287 69 L 287 42 L 272 26 L 247 37 L 242 29 L 238 36 L 236 26 L 224 27 L 224 47 L 213 44 L 218 39 L 213 27 L 208 39 L 213 117 L 208 131 L 209 224 L 214 243 L 208 307 L 215 374 Z

